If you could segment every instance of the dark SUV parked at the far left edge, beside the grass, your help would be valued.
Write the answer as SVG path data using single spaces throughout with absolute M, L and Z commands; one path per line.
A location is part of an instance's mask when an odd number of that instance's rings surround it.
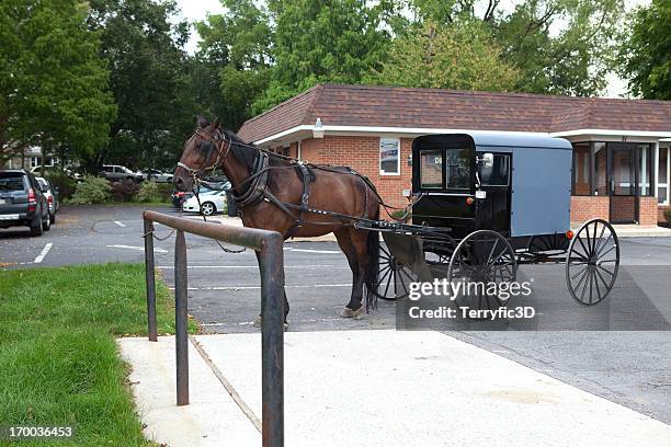
M 0 170 L 0 228 L 23 226 L 33 236 L 52 227 L 47 198 L 30 172 Z

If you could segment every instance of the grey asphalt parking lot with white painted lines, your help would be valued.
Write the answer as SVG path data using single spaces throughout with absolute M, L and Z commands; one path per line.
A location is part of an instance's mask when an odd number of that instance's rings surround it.
M 0 265 L 141 262 L 143 209 L 64 207 L 44 237 L 31 238 L 23 229 L 0 230 Z M 168 207 L 157 210 L 177 214 Z M 158 237 L 168 233 L 157 227 Z M 560 265 L 523 266 L 521 274 L 534 279 L 536 299 L 544 303 L 537 330 L 478 323 L 448 334 L 671 423 L 671 239 L 621 242 L 623 266 L 605 307 L 576 305 L 566 291 Z M 174 238 L 156 241 L 157 265 L 170 286 L 173 243 Z M 187 247 L 189 309 L 203 331 L 258 331 L 251 324 L 260 305 L 253 253 L 225 253 L 214 242 L 193 236 L 187 236 Z M 287 243 L 285 267 L 289 331 L 396 328 L 399 305 L 389 301 L 380 301 L 362 320 L 339 318 L 349 300 L 351 274 L 334 242 Z M 605 324 L 603 309 L 607 309 Z

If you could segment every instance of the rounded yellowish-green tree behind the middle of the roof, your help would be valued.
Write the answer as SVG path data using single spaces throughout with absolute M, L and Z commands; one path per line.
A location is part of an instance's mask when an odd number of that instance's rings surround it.
M 501 49 L 477 22 L 440 28 L 425 22 L 417 33 L 397 38 L 373 83 L 460 90 L 508 91 L 518 71 L 501 60 Z

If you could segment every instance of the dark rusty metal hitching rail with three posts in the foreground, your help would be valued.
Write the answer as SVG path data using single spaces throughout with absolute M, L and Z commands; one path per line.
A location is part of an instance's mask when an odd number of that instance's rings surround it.
M 145 220 L 145 271 L 149 341 L 158 340 L 153 261 L 153 222 L 173 228 L 177 404 L 189 404 L 187 265 L 184 233 L 254 250 L 261 272 L 262 438 L 264 447 L 284 445 L 284 239 L 276 231 L 202 222 L 156 211 Z

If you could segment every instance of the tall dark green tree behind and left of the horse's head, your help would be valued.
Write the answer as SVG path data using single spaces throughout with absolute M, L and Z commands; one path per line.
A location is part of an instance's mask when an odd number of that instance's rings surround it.
M 89 27 L 101 34 L 118 115 L 110 145 L 88 162 L 168 167 L 192 130 L 197 105 L 183 45 L 189 25 L 171 23 L 172 0 L 91 0 Z

